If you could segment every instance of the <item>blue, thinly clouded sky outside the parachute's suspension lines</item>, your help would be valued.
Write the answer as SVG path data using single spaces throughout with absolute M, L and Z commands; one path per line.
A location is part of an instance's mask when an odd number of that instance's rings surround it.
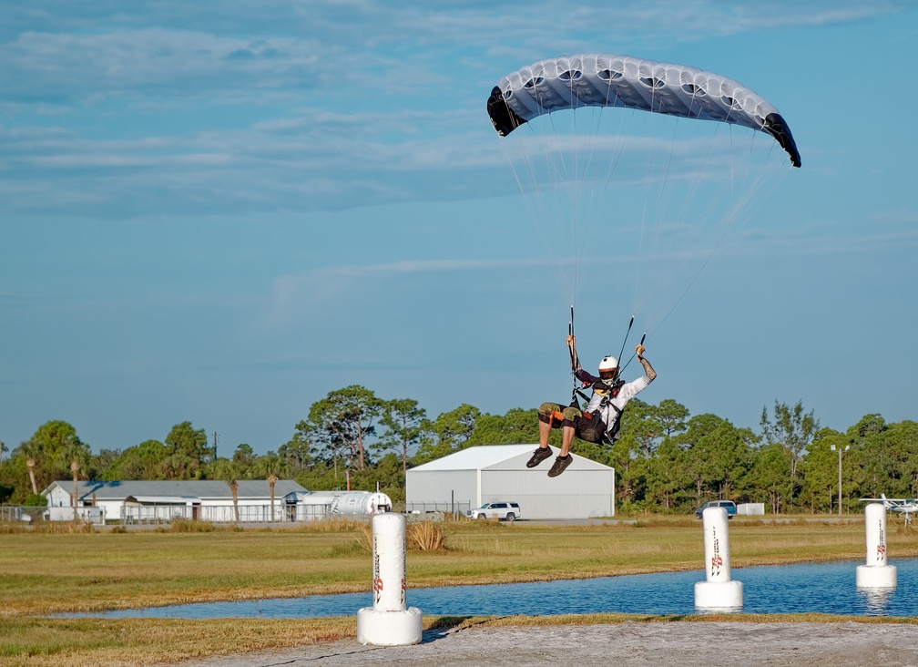
M 776 401 L 838 430 L 918 416 L 912 3 L 0 9 L 10 449 L 50 420 L 95 452 L 189 421 L 222 456 L 261 454 L 352 384 L 431 418 L 566 401 L 565 258 L 521 204 L 485 103 L 505 74 L 583 52 L 736 79 L 802 155 L 648 333 L 658 376 L 641 398 L 756 431 Z M 581 262 L 589 368 L 621 348 L 634 288 L 615 243 Z

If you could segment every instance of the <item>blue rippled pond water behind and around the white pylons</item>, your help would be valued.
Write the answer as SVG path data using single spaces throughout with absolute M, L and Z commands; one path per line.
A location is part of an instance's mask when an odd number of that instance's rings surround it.
M 744 613 L 918 616 L 918 559 L 890 561 L 890 565 L 898 569 L 899 585 L 883 592 L 857 590 L 856 566 L 861 564 L 852 560 L 734 568 L 733 579 L 743 582 Z M 601 612 L 696 614 L 694 587 L 695 582 L 701 581 L 704 581 L 703 572 L 689 571 L 556 582 L 409 587 L 408 605 L 430 616 L 554 616 Z M 174 605 L 66 616 L 318 618 L 356 616 L 358 609 L 372 605 L 368 590 L 360 594 Z

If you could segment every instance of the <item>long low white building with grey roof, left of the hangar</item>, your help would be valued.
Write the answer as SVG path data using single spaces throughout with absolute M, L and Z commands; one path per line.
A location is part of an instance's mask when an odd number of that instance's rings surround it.
M 266 480 L 240 480 L 237 489 L 241 522 L 288 520 L 285 495 L 306 492 L 294 480 L 274 484 L 274 514 L 271 486 Z M 48 499 L 51 520 L 73 519 L 73 480 L 52 481 L 41 492 Z M 84 521 L 106 523 L 157 523 L 174 518 L 200 519 L 214 523 L 236 521 L 229 484 L 220 480 L 131 480 L 77 482 L 77 514 Z

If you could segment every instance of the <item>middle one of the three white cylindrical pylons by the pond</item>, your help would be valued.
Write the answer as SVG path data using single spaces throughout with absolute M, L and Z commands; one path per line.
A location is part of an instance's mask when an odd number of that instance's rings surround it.
M 695 584 L 695 607 L 727 611 L 743 608 L 743 582 L 730 578 L 730 536 L 727 511 L 708 507 L 701 515 L 704 530 L 705 581 Z

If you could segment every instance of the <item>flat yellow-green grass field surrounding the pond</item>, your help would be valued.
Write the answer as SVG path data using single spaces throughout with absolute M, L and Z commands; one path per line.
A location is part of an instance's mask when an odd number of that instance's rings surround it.
M 700 570 L 704 556 L 700 522 L 685 517 L 614 526 L 441 527 L 445 548 L 409 550 L 409 588 Z M 46 616 L 369 591 L 364 529 L 337 522 L 212 532 L 2 532 L 0 665 L 142 665 L 353 636 L 353 618 L 240 623 Z M 918 556 L 918 533 L 891 523 L 889 532 L 893 560 Z M 730 540 L 734 568 L 865 556 L 863 519 L 857 517 L 740 518 L 730 523 Z M 425 619 L 426 626 L 437 622 Z

